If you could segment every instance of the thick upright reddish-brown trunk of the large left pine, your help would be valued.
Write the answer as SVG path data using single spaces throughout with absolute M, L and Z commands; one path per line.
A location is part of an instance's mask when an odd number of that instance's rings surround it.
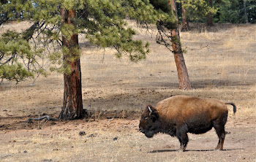
M 75 18 L 75 11 L 61 8 L 61 23 L 72 24 Z M 80 71 L 80 59 L 72 52 L 74 47 L 78 47 L 78 34 L 72 34 L 67 40 L 62 36 L 62 45 L 69 49 L 69 54 L 64 53 L 64 63 L 70 67 L 70 74 L 64 74 L 64 102 L 59 115 L 60 120 L 74 120 L 83 117 L 82 83 Z M 72 59 L 72 58 L 75 58 Z

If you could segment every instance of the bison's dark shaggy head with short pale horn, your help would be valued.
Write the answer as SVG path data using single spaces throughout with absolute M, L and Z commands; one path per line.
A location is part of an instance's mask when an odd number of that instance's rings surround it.
M 147 105 L 140 118 L 139 131 L 151 138 L 159 132 L 158 112 L 151 105 Z

